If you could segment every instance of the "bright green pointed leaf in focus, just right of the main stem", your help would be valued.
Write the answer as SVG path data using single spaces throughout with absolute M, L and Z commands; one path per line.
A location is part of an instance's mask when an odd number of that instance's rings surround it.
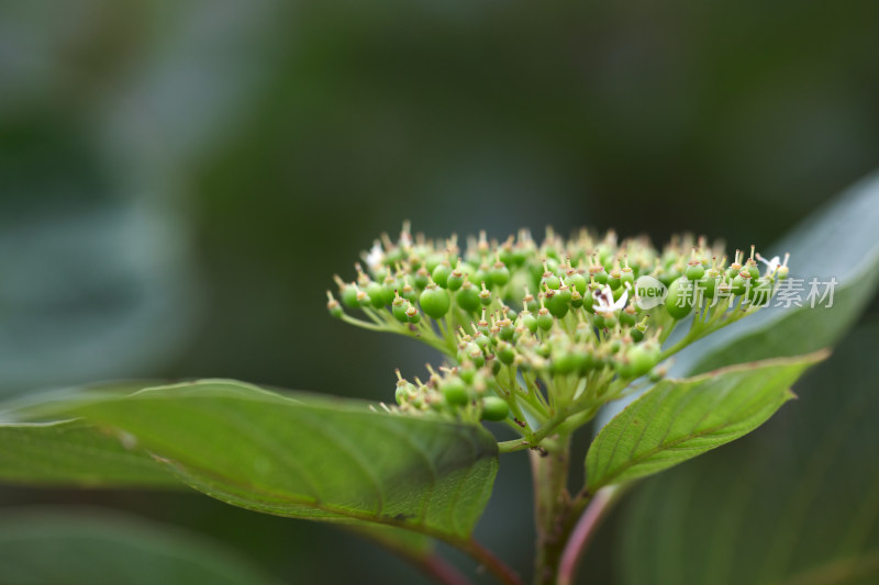
M 827 356 L 817 352 L 663 380 L 601 429 L 586 457 L 587 490 L 643 477 L 750 432 L 790 386 Z

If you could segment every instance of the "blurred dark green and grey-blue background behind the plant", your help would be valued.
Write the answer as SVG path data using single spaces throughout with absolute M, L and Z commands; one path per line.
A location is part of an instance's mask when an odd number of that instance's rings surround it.
M 877 22 L 870 0 L 4 3 L 0 394 L 227 376 L 387 400 L 393 368 L 431 353 L 331 319 L 324 290 L 404 220 L 766 247 L 879 166 Z M 877 350 L 861 333 L 855 351 Z M 524 458 L 497 485 L 478 533 L 527 573 Z M 0 488 L 0 515 L 84 505 L 282 582 L 422 578 L 197 495 Z M 620 576 L 626 514 L 593 582 Z

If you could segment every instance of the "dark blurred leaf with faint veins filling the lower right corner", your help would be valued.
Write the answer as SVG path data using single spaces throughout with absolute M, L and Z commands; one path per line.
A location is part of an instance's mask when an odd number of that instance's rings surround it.
M 623 582 L 879 582 L 877 352 L 874 322 L 798 384 L 795 408 L 638 485 L 617 526 Z

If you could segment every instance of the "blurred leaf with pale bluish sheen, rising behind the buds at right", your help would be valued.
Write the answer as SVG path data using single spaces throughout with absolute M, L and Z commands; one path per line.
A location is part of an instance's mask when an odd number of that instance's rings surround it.
M 767 307 L 685 350 L 675 371 L 700 373 L 732 363 L 798 356 L 836 344 L 879 286 L 879 172 L 817 210 L 772 246 L 791 254 L 791 278 L 835 278 L 831 308 Z M 821 289 L 823 292 L 823 286 Z M 804 299 L 803 299 L 804 300 Z

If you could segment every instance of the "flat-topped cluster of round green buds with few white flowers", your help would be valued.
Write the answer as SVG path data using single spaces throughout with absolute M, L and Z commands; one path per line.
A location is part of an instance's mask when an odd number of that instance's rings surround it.
M 704 238 L 685 235 L 660 251 L 645 237 L 588 230 L 565 240 L 547 229 L 539 245 L 527 230 L 503 241 L 481 233 L 461 249 L 456 236 L 431 241 L 404 226 L 363 255 L 354 281 L 335 277 L 327 308 L 446 356 L 427 383 L 399 379 L 394 410 L 504 420 L 531 440 L 534 424 L 593 414 L 661 375 L 658 364 L 686 345 L 766 305 L 787 260 L 752 246 L 727 266 Z M 663 349 L 690 315 L 689 333 Z

